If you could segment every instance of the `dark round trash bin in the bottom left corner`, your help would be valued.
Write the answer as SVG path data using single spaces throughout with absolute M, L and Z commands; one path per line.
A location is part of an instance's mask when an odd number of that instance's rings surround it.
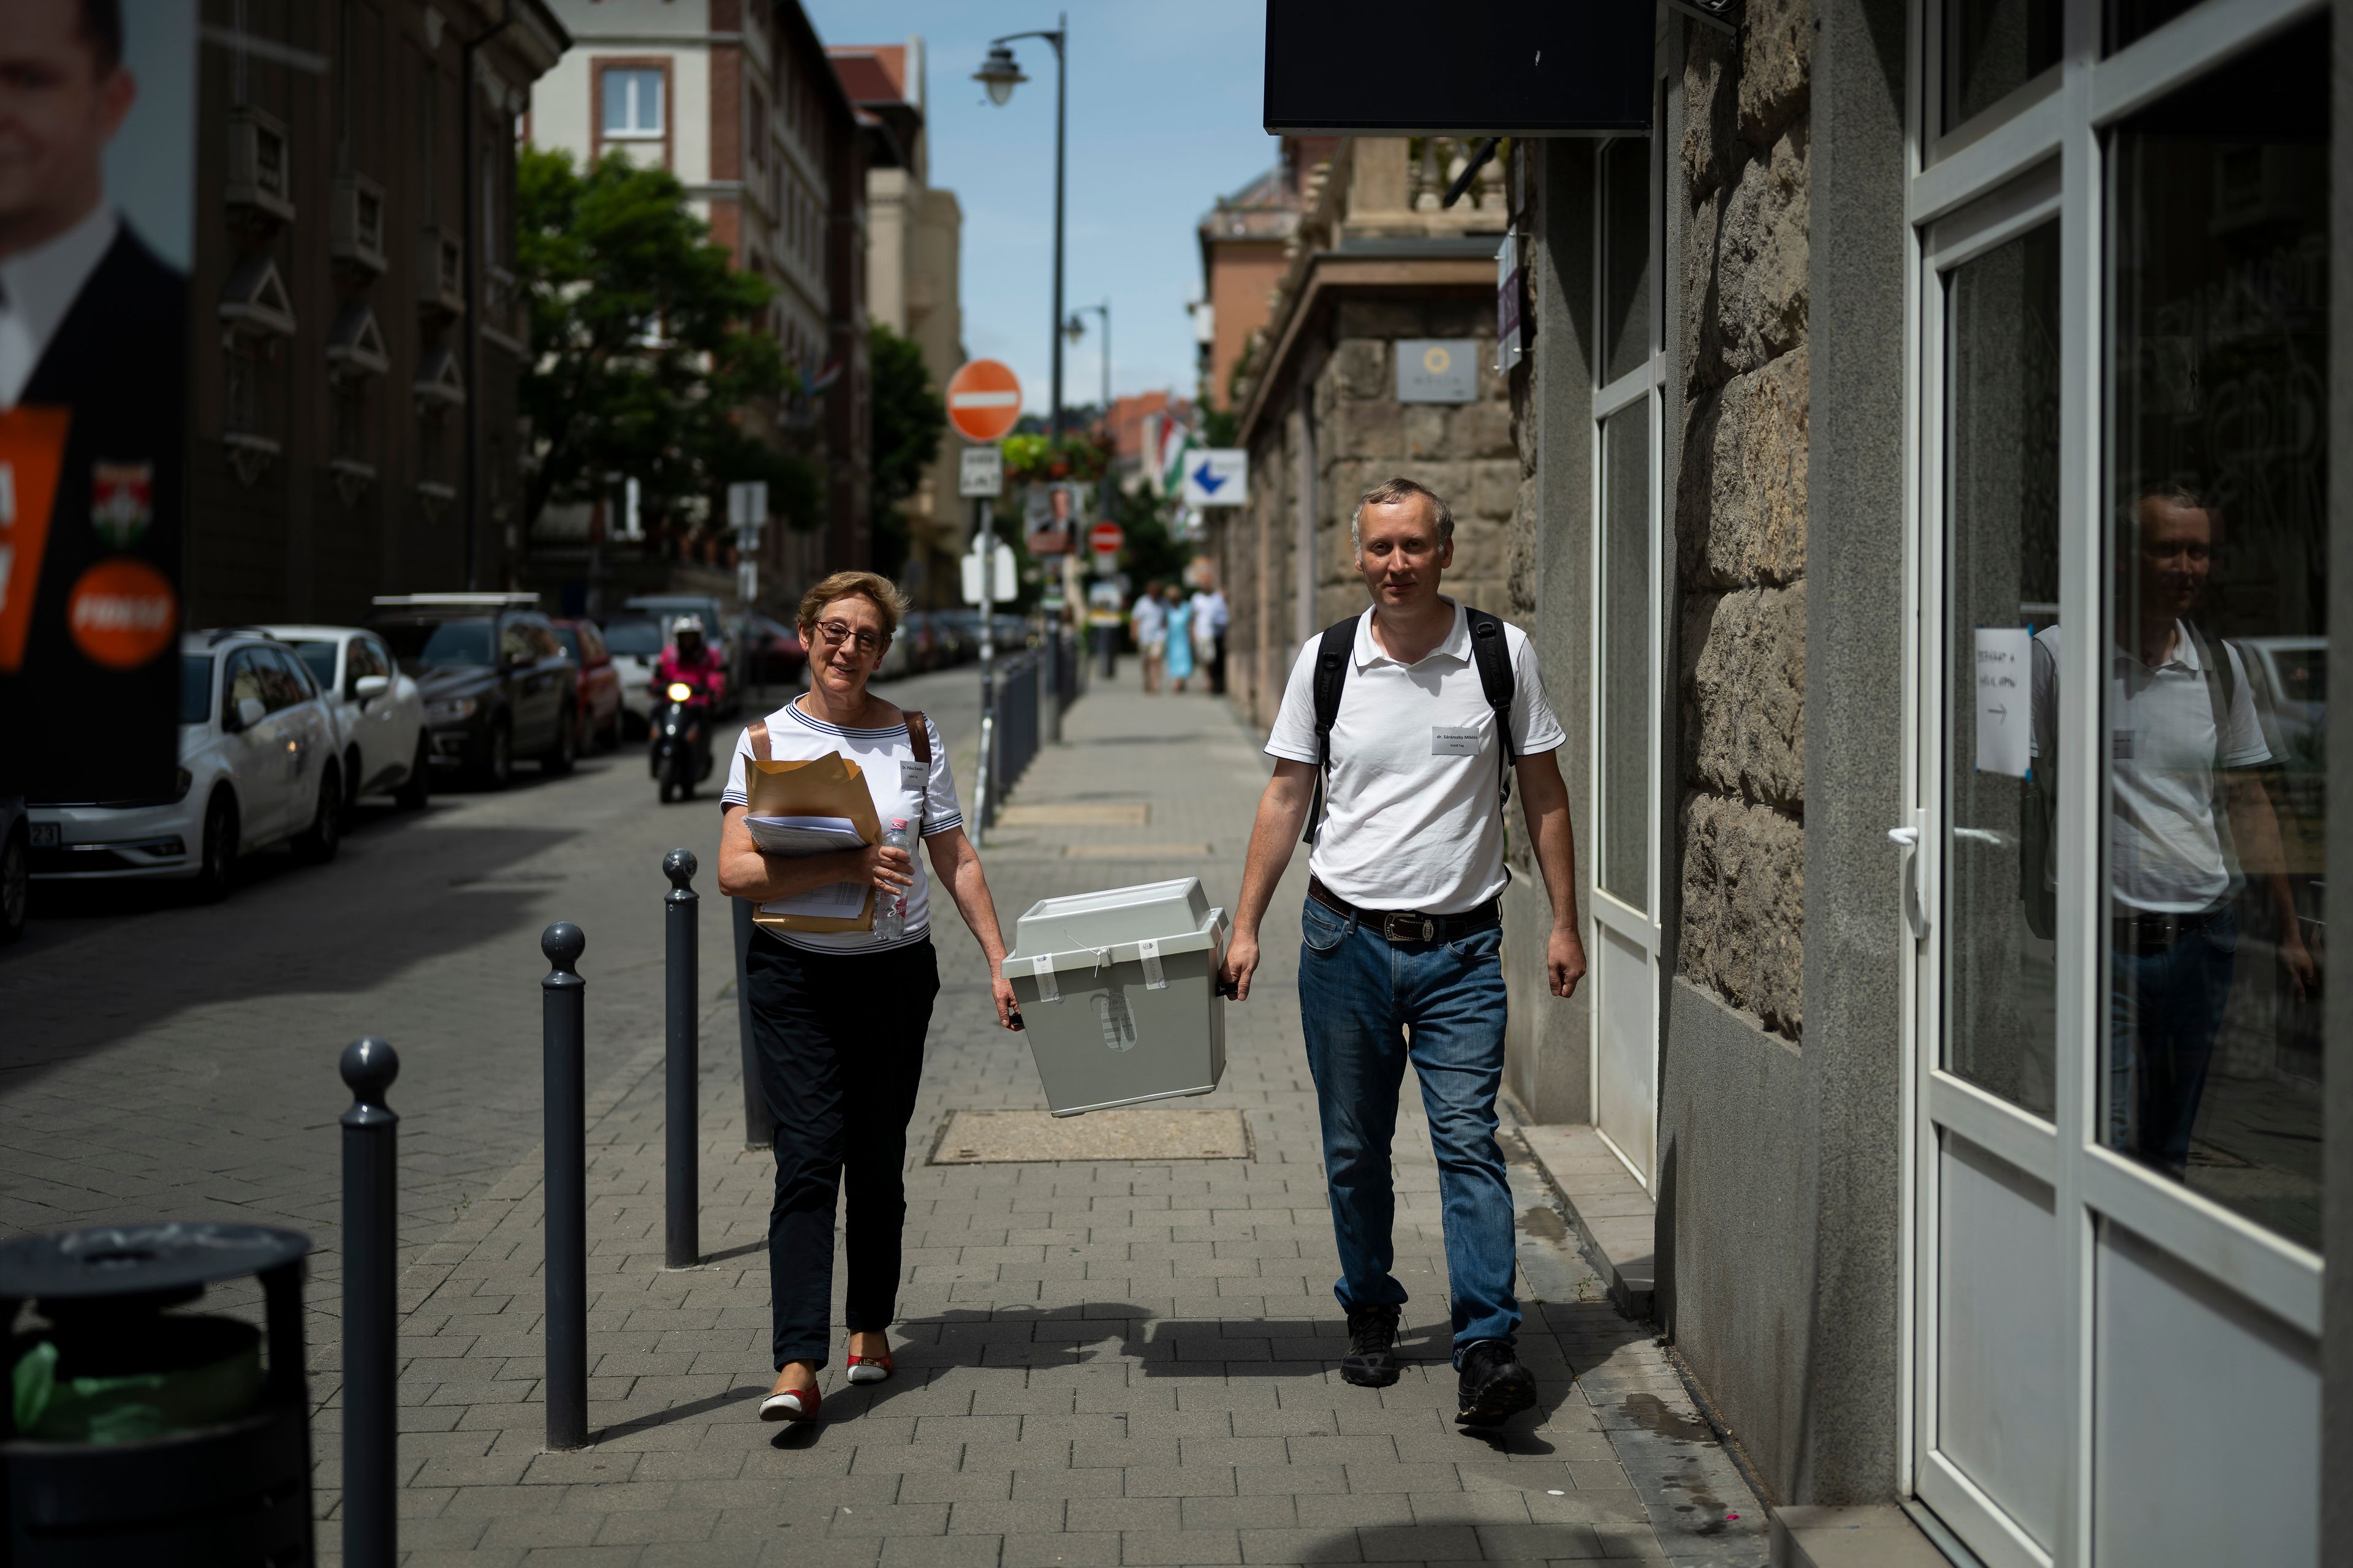
M 308 1237 L 264 1225 L 0 1244 L 0 1563 L 313 1561 L 308 1251 Z M 247 1274 L 266 1331 L 172 1312 Z M 19 1326 L 26 1305 L 35 1316 Z

